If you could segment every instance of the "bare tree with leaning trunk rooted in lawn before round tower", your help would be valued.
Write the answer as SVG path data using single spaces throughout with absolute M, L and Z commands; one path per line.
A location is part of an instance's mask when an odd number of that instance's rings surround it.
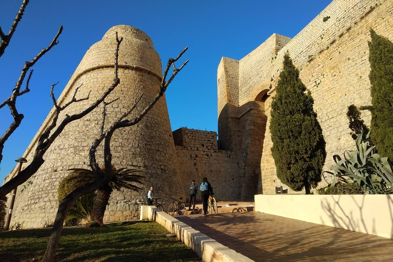
M 116 36 L 117 37 L 117 36 Z M 120 40 L 121 41 L 121 40 Z M 119 40 L 117 39 L 118 45 L 119 45 Z M 101 134 L 100 136 L 93 141 L 92 147 L 89 152 L 89 161 L 90 161 L 90 167 L 93 170 L 95 180 L 92 183 L 86 184 L 82 187 L 79 187 L 72 191 L 70 194 L 67 195 L 63 200 L 61 200 L 59 204 L 59 208 L 57 210 L 55 222 L 53 224 L 53 229 L 52 229 L 52 234 L 48 242 L 48 247 L 47 250 L 42 258 L 43 262 L 52 262 L 56 253 L 57 245 L 59 243 L 60 235 L 61 235 L 61 230 L 63 228 L 63 223 L 64 223 L 64 217 L 67 214 L 67 211 L 70 209 L 72 204 L 80 198 L 82 195 L 87 194 L 87 193 L 92 193 L 96 191 L 98 188 L 106 185 L 108 182 L 111 181 L 113 177 L 113 170 L 112 170 L 112 154 L 111 154 L 111 139 L 113 136 L 113 133 L 115 130 L 122 128 L 122 127 L 127 127 L 127 126 L 133 126 L 137 124 L 139 121 L 142 120 L 142 118 L 146 115 L 146 113 L 157 103 L 157 101 L 162 97 L 168 88 L 168 85 L 170 82 L 173 80 L 173 78 L 183 69 L 184 65 L 187 64 L 188 60 L 185 61 L 182 66 L 178 69 L 175 67 L 174 62 L 176 62 L 187 50 L 187 47 L 182 50 L 182 52 L 178 55 L 178 57 L 172 59 L 168 59 L 168 63 L 166 65 L 164 75 L 162 77 L 161 85 L 160 85 L 160 91 L 156 95 L 154 99 L 150 101 L 150 103 L 140 112 L 135 118 L 131 120 L 123 120 L 126 117 L 129 116 L 130 113 L 133 112 L 139 101 L 141 100 L 143 94 L 135 99 L 133 105 L 129 108 L 129 110 L 124 113 L 119 119 L 117 119 L 108 129 L 103 130 L 101 128 Z M 166 77 L 168 75 L 168 72 L 170 68 L 173 67 L 173 72 L 168 81 L 166 81 Z M 117 78 L 117 66 L 115 67 L 115 78 Z M 102 125 L 103 122 L 105 121 L 105 111 L 103 111 L 103 117 L 102 117 Z M 105 170 L 101 170 L 97 163 L 96 159 L 96 151 L 97 147 L 101 144 L 101 142 L 104 141 L 104 164 L 105 164 Z

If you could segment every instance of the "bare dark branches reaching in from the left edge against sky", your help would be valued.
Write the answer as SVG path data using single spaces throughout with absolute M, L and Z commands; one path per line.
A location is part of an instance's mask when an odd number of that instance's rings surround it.
M 0 45 L 0 51 L 4 50 L 5 48 L 8 46 L 9 40 L 13 34 L 13 32 L 16 29 L 17 23 L 19 22 L 21 16 L 23 15 L 23 12 L 27 6 L 27 4 L 29 3 L 28 0 L 25 0 L 22 4 L 22 6 L 20 7 L 20 10 L 16 16 L 16 19 L 14 20 L 14 24 L 11 27 L 10 33 L 8 36 L 5 36 L 3 31 L 1 31 L 1 37 L 2 37 L 2 42 Z M 16 110 L 16 98 L 18 96 L 21 96 L 23 94 L 26 94 L 27 92 L 29 92 L 29 82 L 30 82 L 30 78 L 32 75 L 32 71 L 30 72 L 27 81 L 26 81 L 26 89 L 24 91 L 20 91 L 21 85 L 24 82 L 24 79 L 26 77 L 26 74 L 28 72 L 28 70 L 38 61 L 38 59 L 40 57 L 42 57 L 45 53 L 47 53 L 53 46 L 57 45 L 58 40 L 57 38 L 59 37 L 59 35 L 62 32 L 62 26 L 60 26 L 59 31 L 57 32 L 55 38 L 52 40 L 51 44 L 48 46 L 48 48 L 43 49 L 41 52 L 39 52 L 39 54 L 33 58 L 33 60 L 31 60 L 30 62 L 27 61 L 25 63 L 25 66 L 22 70 L 22 73 L 20 74 L 20 77 L 18 79 L 18 81 L 16 82 L 16 86 L 15 89 L 12 92 L 12 95 L 7 98 L 2 104 L 0 104 L 0 108 L 2 108 L 5 105 L 8 105 L 11 113 L 14 117 L 14 122 L 10 125 L 10 127 L 7 129 L 7 131 L 5 132 L 5 134 L 0 138 L 0 162 L 2 159 L 2 151 L 4 148 L 4 143 L 5 141 L 11 136 L 11 134 L 14 132 L 14 130 L 19 126 L 21 120 L 23 119 L 23 115 L 19 114 L 18 111 Z M 4 41 L 3 41 L 4 39 Z M 120 45 L 120 43 L 119 43 Z M 0 52 L 1 54 L 1 52 Z M 117 67 L 117 57 L 115 59 L 115 63 L 116 63 L 116 67 Z M 65 109 L 67 108 L 70 104 L 72 103 L 76 103 L 82 100 L 86 100 L 89 99 L 89 95 L 88 97 L 85 98 L 81 98 L 81 99 L 77 99 L 76 95 L 78 92 L 78 89 L 80 88 L 80 86 L 75 90 L 75 93 L 71 99 L 71 101 L 69 101 L 68 103 L 64 104 L 63 106 L 60 106 L 57 104 L 57 101 L 53 95 L 53 89 L 54 86 L 57 84 L 53 84 L 52 88 L 51 88 L 51 97 L 54 103 L 54 107 L 55 107 L 55 113 L 54 113 L 54 117 L 52 119 L 52 123 L 43 131 L 43 133 L 41 134 L 41 136 L 38 139 L 38 143 L 37 146 L 35 148 L 34 151 L 34 155 L 33 158 L 31 159 L 30 164 L 24 169 L 21 170 L 19 174 L 17 174 L 17 176 L 15 176 L 14 178 L 12 178 L 11 180 L 9 180 L 7 183 L 5 183 L 3 186 L 0 187 L 0 198 L 4 197 L 5 195 L 7 195 L 8 193 L 10 193 L 13 189 L 15 189 L 17 186 L 25 183 L 30 177 L 33 176 L 33 174 L 35 174 L 38 170 L 38 168 L 43 164 L 43 162 L 45 160 L 43 160 L 43 155 L 45 154 L 45 152 L 49 149 L 49 147 L 51 146 L 51 144 L 55 141 L 55 139 L 60 135 L 60 133 L 62 132 L 62 130 L 64 129 L 64 127 L 66 125 L 68 125 L 69 123 L 81 119 L 82 117 L 84 117 L 85 115 L 89 114 L 90 112 L 92 112 L 102 101 L 104 101 L 104 99 L 116 88 L 116 86 L 120 83 L 120 79 L 119 78 L 115 78 L 111 84 L 111 86 L 103 93 L 103 95 L 96 100 L 95 102 L 93 102 L 88 108 L 86 108 L 85 110 L 83 110 L 82 112 L 80 112 L 79 114 L 74 114 L 74 115 L 66 115 L 65 118 L 61 121 L 60 124 L 57 123 L 58 118 L 59 118 L 59 114 Z M 90 94 L 90 93 L 89 93 Z

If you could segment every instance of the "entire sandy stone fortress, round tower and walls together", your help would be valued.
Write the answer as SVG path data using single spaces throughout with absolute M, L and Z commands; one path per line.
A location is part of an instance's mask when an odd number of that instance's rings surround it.
M 154 185 L 155 194 L 164 203 L 186 197 L 190 180 L 199 183 L 203 177 L 208 177 L 212 185 L 226 185 L 214 188 L 218 200 L 253 201 L 255 194 L 274 194 L 276 186 L 288 188 L 276 177 L 269 119 L 283 55 L 289 52 L 314 98 L 326 141 L 323 169 L 329 170 L 333 155 L 354 147 L 346 118 L 348 105 L 371 102 L 369 29 L 393 41 L 392 25 L 391 0 L 333 1 L 294 38 L 273 34 L 240 60 L 221 59 L 217 70 L 218 140 L 215 132 L 187 128 L 171 132 L 164 96 L 138 125 L 115 133 L 114 166 L 144 169 L 144 189 Z M 151 39 L 136 28 L 116 26 L 86 52 L 58 101 L 60 105 L 67 103 L 81 84 L 77 96 L 84 97 L 91 91 L 90 99 L 70 106 L 64 114 L 79 112 L 110 85 L 116 31 L 124 38 L 119 51 L 121 83 L 107 100 L 120 99 L 107 107 L 106 123 L 125 112 L 141 93 L 144 96 L 136 111 L 158 92 L 162 67 Z M 53 221 L 61 179 L 70 168 L 89 168 L 89 149 L 99 133 L 101 111 L 101 107 L 96 108 L 69 124 L 47 151 L 38 172 L 18 187 L 12 225 L 31 228 Z M 53 112 L 27 148 L 24 157 L 28 161 L 52 118 Z M 362 118 L 369 124 L 368 112 L 362 112 Z M 6 180 L 15 172 L 16 168 Z M 325 184 L 322 179 L 320 186 Z M 104 221 L 133 219 L 139 214 L 139 205 L 145 203 L 144 194 L 114 191 Z

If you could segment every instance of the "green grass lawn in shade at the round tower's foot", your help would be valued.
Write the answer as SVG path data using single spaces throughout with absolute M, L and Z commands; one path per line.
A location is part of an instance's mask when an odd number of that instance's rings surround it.
M 38 261 L 51 228 L 0 232 L 0 260 Z M 56 261 L 202 261 L 165 228 L 150 221 L 124 222 L 102 228 L 64 228 Z

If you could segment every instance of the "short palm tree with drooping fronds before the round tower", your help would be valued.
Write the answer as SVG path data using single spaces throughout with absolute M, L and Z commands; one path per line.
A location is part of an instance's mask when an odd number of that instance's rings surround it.
M 72 171 L 70 177 L 72 177 L 73 179 L 81 177 L 84 181 L 94 180 L 94 173 L 90 169 L 73 168 L 69 170 Z M 105 166 L 102 166 L 101 170 L 104 171 Z M 104 185 L 96 191 L 96 199 L 94 201 L 92 211 L 92 220 L 94 222 L 97 222 L 99 225 L 103 225 L 105 209 L 108 204 L 109 198 L 111 197 L 111 193 L 114 189 L 121 190 L 122 188 L 128 188 L 134 191 L 142 190 L 142 188 L 136 186 L 134 183 L 143 183 L 144 176 L 136 174 L 136 172 L 141 172 L 143 170 L 127 168 L 116 169 L 115 167 L 112 167 L 112 170 L 112 180 L 107 185 Z

